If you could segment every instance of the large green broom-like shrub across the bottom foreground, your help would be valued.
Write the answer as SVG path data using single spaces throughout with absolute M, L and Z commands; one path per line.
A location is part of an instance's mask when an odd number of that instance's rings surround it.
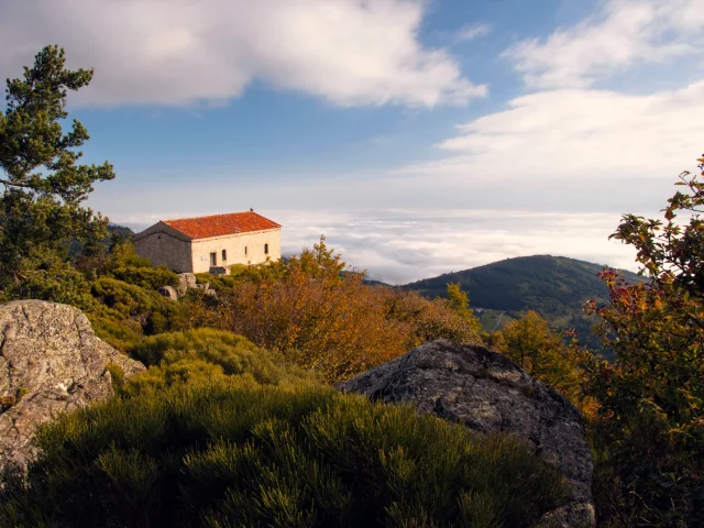
M 37 442 L 0 526 L 522 527 L 565 493 L 506 437 L 238 376 L 65 415 Z

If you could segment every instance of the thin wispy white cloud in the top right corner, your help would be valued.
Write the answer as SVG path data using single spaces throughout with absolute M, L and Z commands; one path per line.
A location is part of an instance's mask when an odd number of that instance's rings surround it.
M 704 0 L 603 0 L 597 14 L 505 56 L 528 86 L 583 88 L 634 65 L 704 56 Z

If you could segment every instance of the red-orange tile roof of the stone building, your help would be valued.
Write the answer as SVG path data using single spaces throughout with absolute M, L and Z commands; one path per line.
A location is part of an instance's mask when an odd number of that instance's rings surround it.
M 278 223 L 252 211 L 162 220 L 162 222 L 194 240 L 280 228 Z

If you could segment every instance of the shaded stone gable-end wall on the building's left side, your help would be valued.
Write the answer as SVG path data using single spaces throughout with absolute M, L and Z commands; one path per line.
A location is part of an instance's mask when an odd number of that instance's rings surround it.
M 160 222 L 142 231 L 134 238 L 134 248 L 154 266 L 163 264 L 176 273 L 190 272 L 190 241 L 168 226 Z

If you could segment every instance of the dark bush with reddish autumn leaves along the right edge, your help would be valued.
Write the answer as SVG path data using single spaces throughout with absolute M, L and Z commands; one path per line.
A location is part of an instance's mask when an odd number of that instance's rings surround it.
M 648 283 L 602 278 L 592 301 L 613 363 L 593 360 L 586 391 L 598 512 L 616 526 L 704 526 L 704 158 L 683 173 L 664 222 L 627 215 L 614 238 L 632 245 Z

